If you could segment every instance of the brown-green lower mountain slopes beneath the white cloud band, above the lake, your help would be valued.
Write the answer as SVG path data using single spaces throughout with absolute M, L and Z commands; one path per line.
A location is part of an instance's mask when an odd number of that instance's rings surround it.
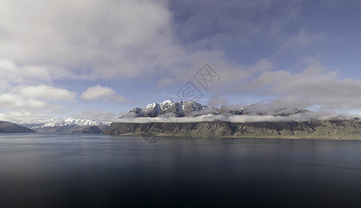
M 361 121 L 230 123 L 112 123 L 108 135 L 169 137 L 235 137 L 285 139 L 361 139 Z

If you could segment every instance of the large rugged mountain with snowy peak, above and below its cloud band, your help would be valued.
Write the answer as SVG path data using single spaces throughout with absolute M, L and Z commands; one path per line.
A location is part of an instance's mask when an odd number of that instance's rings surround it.
M 308 117 L 308 110 L 295 107 L 275 107 L 253 104 L 246 107 L 226 106 L 208 107 L 192 101 L 177 103 L 165 101 L 151 103 L 144 107 L 136 107 L 125 116 L 157 117 L 171 114 L 177 117 L 215 114 L 233 116 L 290 116 L 301 114 L 303 121 L 262 121 L 258 122 L 227 122 L 221 120 L 201 121 L 185 120 L 188 123 L 112 123 L 105 134 L 108 135 L 151 135 L 171 137 L 236 137 L 236 138 L 325 138 L 325 139 L 361 139 L 361 119 L 338 117 L 338 119 L 319 120 Z M 239 118 L 240 118 L 239 117 Z M 235 118 L 233 116 L 233 118 Z M 137 121 L 137 120 L 135 120 Z M 142 120 L 139 120 L 142 121 Z M 159 122 L 159 120 L 158 120 Z

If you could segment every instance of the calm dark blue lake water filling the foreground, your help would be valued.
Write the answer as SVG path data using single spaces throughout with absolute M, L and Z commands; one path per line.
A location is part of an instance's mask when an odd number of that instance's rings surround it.
M 359 207 L 361 141 L 0 134 L 0 207 Z

